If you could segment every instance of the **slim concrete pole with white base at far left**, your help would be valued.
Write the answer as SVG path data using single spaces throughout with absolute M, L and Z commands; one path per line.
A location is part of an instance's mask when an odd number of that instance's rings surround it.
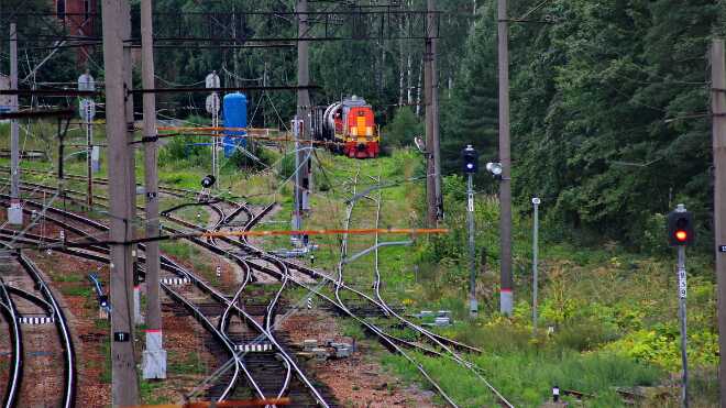
M 10 89 L 18 90 L 18 31 L 10 23 Z M 10 96 L 10 111 L 18 112 L 18 95 Z M 8 222 L 22 225 L 23 210 L 20 207 L 20 129 L 18 119 L 10 121 L 10 208 Z

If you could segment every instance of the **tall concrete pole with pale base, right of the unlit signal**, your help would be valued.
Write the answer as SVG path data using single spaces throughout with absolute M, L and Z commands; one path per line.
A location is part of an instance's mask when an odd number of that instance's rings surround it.
M 514 293 L 512 279 L 512 158 L 509 156 L 509 38 L 507 24 L 507 0 L 498 2 L 498 65 L 499 65 L 499 240 L 502 243 L 501 268 L 502 291 L 499 311 L 512 316 Z

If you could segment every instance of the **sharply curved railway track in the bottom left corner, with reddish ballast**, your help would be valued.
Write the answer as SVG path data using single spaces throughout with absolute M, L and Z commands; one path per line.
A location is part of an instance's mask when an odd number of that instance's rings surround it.
M 1 308 L 12 340 L 12 362 L 3 407 L 75 407 L 76 356 L 66 316 L 37 266 L 21 251 L 13 251 L 9 244 L 2 246 L 12 251 L 15 271 L 6 273 L 4 279 L 0 280 Z M 47 327 L 51 324 L 57 331 L 57 346 L 48 342 L 52 337 L 48 338 Z M 36 350 L 38 348 L 42 350 Z M 58 356 L 62 362 L 57 363 L 62 365 L 53 363 Z M 58 366 L 63 370 L 55 368 Z

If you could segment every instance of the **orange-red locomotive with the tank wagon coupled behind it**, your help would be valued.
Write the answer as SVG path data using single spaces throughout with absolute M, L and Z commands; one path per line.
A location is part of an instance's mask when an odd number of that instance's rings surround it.
M 331 150 L 351 158 L 374 158 L 381 151 L 373 108 L 356 96 L 327 107 L 316 107 L 312 134 L 316 140 L 332 142 Z

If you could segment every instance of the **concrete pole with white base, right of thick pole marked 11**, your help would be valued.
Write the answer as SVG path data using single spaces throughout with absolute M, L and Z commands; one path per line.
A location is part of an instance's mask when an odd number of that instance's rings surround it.
M 152 0 L 141 2 L 141 75 L 145 89 L 154 88 L 154 38 Z M 144 186 L 146 236 L 158 236 L 158 175 L 156 173 L 156 95 L 144 93 Z M 216 139 L 213 140 L 216 142 Z M 213 146 L 212 146 L 213 150 Z M 166 378 L 166 351 L 162 337 L 162 307 L 158 296 L 158 242 L 146 243 L 146 350 L 142 359 L 144 378 Z

